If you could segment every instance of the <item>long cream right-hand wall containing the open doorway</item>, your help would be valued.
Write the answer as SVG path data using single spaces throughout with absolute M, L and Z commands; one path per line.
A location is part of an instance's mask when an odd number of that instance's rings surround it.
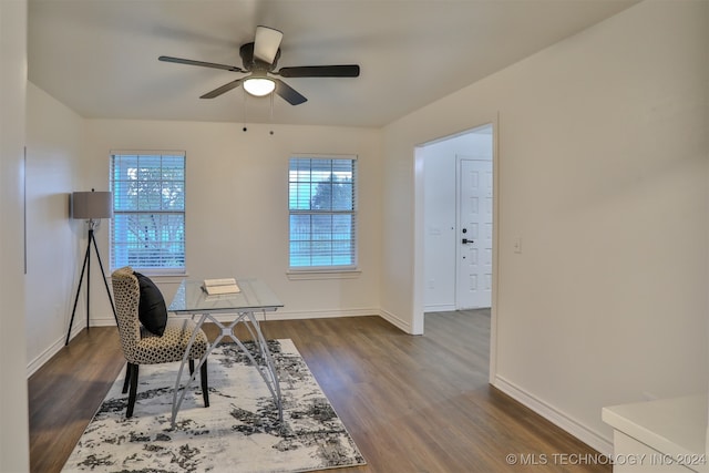
M 422 329 L 414 147 L 499 115 L 494 383 L 607 453 L 602 407 L 708 384 L 708 9 L 643 2 L 384 130 L 383 310 Z

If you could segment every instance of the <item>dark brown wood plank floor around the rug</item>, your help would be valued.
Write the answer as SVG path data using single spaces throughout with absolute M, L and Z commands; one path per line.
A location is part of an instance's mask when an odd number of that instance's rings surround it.
M 574 464 L 598 454 L 489 385 L 489 310 L 428 313 L 422 337 L 379 317 L 261 327 L 294 340 L 367 459 L 341 473 L 610 472 Z M 61 470 L 123 366 L 115 328 L 94 327 L 30 378 L 32 472 Z

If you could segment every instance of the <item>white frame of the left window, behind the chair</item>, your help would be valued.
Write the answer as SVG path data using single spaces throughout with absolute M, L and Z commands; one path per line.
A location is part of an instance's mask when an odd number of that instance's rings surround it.
M 182 179 L 164 179 L 162 176 L 160 179 L 150 179 L 151 183 L 160 183 L 162 187 L 162 183 L 164 182 L 177 182 L 181 183 L 182 186 L 182 210 L 179 209 L 154 209 L 148 208 L 146 210 L 124 210 L 116 208 L 116 194 L 115 194 L 115 172 L 116 172 L 116 156 L 134 156 L 140 160 L 141 156 L 160 156 L 161 157 L 161 169 L 162 169 L 162 158 L 165 156 L 169 157 L 181 157 L 182 158 Z M 184 151 L 175 151 L 175 150 L 112 150 L 109 155 L 109 186 L 111 192 L 113 193 L 113 218 L 110 222 L 110 232 L 109 232 L 109 265 L 111 271 L 123 267 L 131 266 L 136 271 L 143 273 L 145 275 L 151 276 L 184 276 L 187 273 L 187 258 L 186 258 L 186 233 L 187 233 L 187 199 L 186 199 L 186 182 L 187 182 L 187 156 Z M 161 205 L 162 207 L 162 205 Z M 117 263 L 115 259 L 116 253 L 116 240 L 115 240 L 115 222 L 116 216 L 120 215 L 161 215 L 161 216 L 181 216 L 182 217 L 182 266 L 140 266 L 140 265 L 131 265 L 130 260 L 123 263 Z M 125 241 L 121 244 L 127 245 L 127 238 Z M 164 243 L 164 241 L 161 241 Z M 178 254 L 179 255 L 179 254 Z M 127 256 L 126 256 L 127 259 Z

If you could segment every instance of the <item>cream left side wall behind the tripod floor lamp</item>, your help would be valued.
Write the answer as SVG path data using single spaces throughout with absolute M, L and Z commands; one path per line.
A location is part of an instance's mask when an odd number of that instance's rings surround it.
M 25 310 L 33 372 L 64 346 L 86 248 L 84 223 L 70 219 L 69 195 L 89 189 L 82 184 L 83 119 L 32 83 L 28 83 L 27 115 Z M 92 258 L 92 273 L 97 274 L 95 254 Z M 93 300 L 107 297 L 100 279 L 92 284 L 93 306 Z M 86 325 L 85 285 L 74 333 Z

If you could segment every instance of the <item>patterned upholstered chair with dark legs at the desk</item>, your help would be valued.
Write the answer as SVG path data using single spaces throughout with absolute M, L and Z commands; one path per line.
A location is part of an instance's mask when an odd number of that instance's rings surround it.
M 129 384 L 131 392 L 129 394 L 129 405 L 125 413 L 126 418 L 133 415 L 135 398 L 137 391 L 137 374 L 141 364 L 158 364 L 182 361 L 187 348 L 189 337 L 196 329 L 194 321 L 167 318 L 165 311 L 164 320 L 160 325 L 157 335 L 146 328 L 150 323 L 141 323 L 143 313 L 138 313 L 141 305 L 141 286 L 145 280 L 152 285 L 150 279 L 134 273 L 129 266 L 116 269 L 112 274 L 113 298 L 115 301 L 116 316 L 119 320 L 119 336 L 121 337 L 121 347 L 123 354 L 127 360 L 127 369 L 125 382 L 123 384 L 123 393 L 127 391 Z M 138 278 L 142 278 L 138 282 Z M 162 300 L 160 290 L 152 285 L 152 295 L 158 295 Z M 144 289 L 144 288 L 143 288 Z M 143 291 L 146 299 L 148 294 Z M 145 302 L 145 300 L 143 301 Z M 164 300 L 162 300 L 164 309 Z M 151 327 L 153 331 L 155 328 Z M 189 351 L 189 372 L 194 372 L 194 360 L 199 360 L 207 351 L 207 337 L 204 331 L 198 330 L 195 336 L 194 343 Z M 205 408 L 209 407 L 209 391 L 207 385 L 207 362 L 202 364 L 201 369 L 202 392 L 204 397 Z

